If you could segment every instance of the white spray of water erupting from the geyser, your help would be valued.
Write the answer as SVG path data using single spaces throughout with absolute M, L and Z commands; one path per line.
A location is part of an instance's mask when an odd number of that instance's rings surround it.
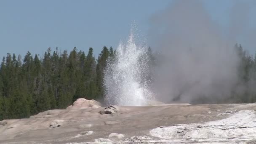
M 105 101 L 107 104 L 141 106 L 152 98 L 149 91 L 147 47 L 136 44 L 134 32 L 126 43 L 117 47 L 115 58 L 109 58 L 104 71 Z

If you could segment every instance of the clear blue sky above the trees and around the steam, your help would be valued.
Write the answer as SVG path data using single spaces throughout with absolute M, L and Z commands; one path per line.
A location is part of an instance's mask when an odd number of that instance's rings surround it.
M 48 47 L 88 51 L 117 47 L 133 21 L 147 35 L 149 18 L 171 0 L 0 0 L 0 58 L 27 51 L 41 56 Z M 214 21 L 225 25 L 233 0 L 204 0 Z M 256 18 L 256 5 L 252 18 Z M 254 21 L 255 22 L 255 21 Z M 256 25 L 256 22 L 254 23 Z M 248 48 L 255 51 L 255 48 Z

